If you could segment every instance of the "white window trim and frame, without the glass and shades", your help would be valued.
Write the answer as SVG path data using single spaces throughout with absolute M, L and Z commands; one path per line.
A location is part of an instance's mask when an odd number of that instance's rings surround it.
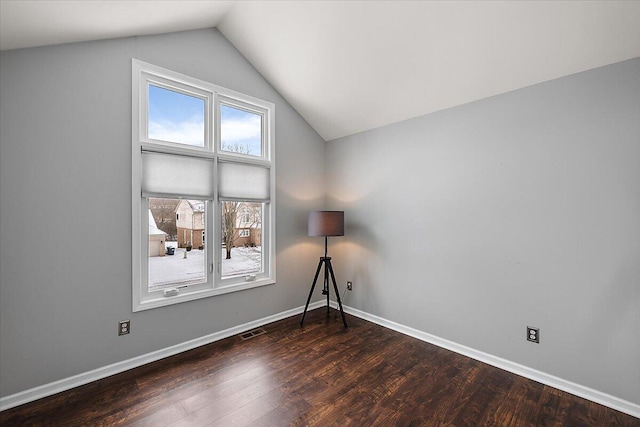
M 160 84 L 205 99 L 205 147 L 191 147 L 147 137 L 147 82 Z M 142 87 L 141 87 L 142 86 Z M 263 114 L 262 156 L 247 156 L 220 151 L 220 102 Z M 142 311 L 200 298 L 265 286 L 276 281 L 276 222 L 275 222 L 275 105 L 230 89 L 176 73 L 152 64 L 132 59 L 132 310 Z M 207 242 L 207 283 L 189 287 L 188 292 L 164 297 L 162 291 L 147 292 L 148 213 L 146 199 L 141 194 L 142 151 L 156 151 L 194 157 L 213 158 L 217 176 L 218 161 L 233 160 L 241 163 L 268 166 L 270 201 L 264 203 L 262 235 L 263 272 L 222 279 L 221 277 L 221 212 L 217 185 L 213 200 L 207 203 L 205 230 Z M 163 195 L 167 196 L 167 195 Z M 180 195 L 175 195 L 179 198 Z M 143 215 L 144 213 L 144 215 Z M 144 236 L 143 236 L 144 233 Z M 145 237 L 145 238 L 143 238 Z M 211 243 L 210 243 L 211 241 Z M 144 243 L 143 243 L 144 242 Z

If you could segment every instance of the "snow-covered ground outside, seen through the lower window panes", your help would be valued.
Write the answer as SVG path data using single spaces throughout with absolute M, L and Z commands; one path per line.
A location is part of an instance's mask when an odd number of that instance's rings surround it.
M 174 255 L 149 258 L 149 288 L 161 289 L 167 286 L 202 283 L 205 280 L 205 251 L 193 249 L 186 252 L 177 248 L 176 242 L 167 242 L 167 247 L 174 247 Z M 184 257 L 184 254 L 187 257 Z M 223 256 L 226 253 L 222 250 Z M 256 273 L 262 268 L 262 248 L 233 248 L 231 259 L 222 260 L 222 275 L 235 276 Z

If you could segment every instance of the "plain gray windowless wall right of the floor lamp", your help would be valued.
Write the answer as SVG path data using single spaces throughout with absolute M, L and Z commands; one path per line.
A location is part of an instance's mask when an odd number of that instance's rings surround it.
M 640 404 L 640 59 L 332 141 L 327 185 L 348 305 Z

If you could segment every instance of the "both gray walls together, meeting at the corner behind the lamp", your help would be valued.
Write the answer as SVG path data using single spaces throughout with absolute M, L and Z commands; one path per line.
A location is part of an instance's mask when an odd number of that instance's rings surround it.
M 131 313 L 132 57 L 276 104 L 276 285 Z M 300 306 L 325 189 L 348 305 L 640 403 L 639 59 L 325 148 L 216 30 L 0 53 L 0 395 Z

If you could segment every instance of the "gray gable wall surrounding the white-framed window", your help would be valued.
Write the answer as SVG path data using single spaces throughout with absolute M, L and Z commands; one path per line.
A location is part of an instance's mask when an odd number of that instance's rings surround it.
M 131 58 L 276 104 L 276 285 L 131 313 Z M 0 395 L 306 300 L 325 144 L 217 30 L 2 52 L 0 142 Z

